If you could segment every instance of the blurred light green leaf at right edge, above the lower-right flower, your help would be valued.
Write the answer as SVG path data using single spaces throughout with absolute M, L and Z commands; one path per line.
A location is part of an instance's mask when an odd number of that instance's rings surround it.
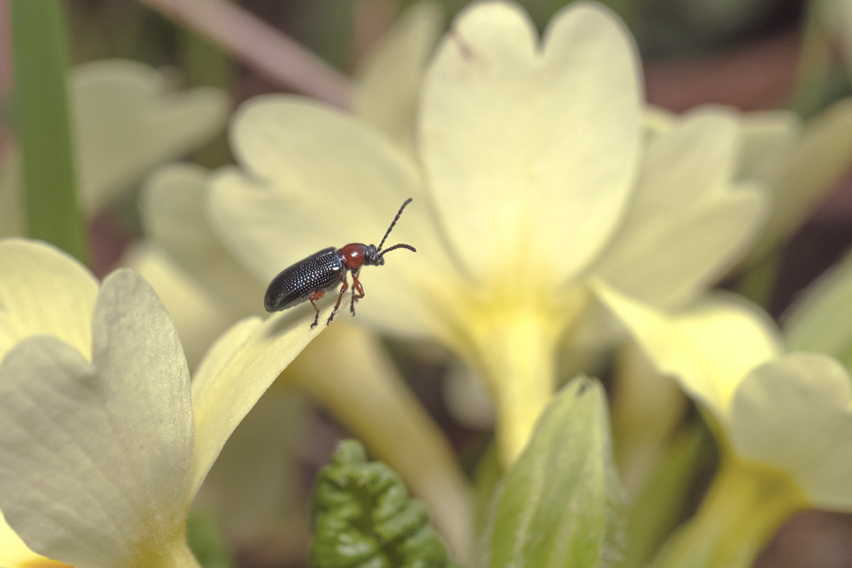
M 784 327 L 791 350 L 828 353 L 852 366 L 852 255 L 811 286 Z

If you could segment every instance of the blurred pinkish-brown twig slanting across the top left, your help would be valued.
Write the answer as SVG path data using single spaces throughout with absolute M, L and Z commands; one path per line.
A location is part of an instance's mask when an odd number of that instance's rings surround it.
M 210 37 L 282 87 L 348 108 L 352 82 L 273 26 L 222 0 L 139 0 Z

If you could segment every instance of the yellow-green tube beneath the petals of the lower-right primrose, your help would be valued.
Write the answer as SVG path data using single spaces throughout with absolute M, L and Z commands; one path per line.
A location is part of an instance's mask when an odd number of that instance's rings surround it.
M 747 568 L 774 531 L 807 505 L 786 473 L 728 456 L 698 513 L 671 537 L 652 566 Z

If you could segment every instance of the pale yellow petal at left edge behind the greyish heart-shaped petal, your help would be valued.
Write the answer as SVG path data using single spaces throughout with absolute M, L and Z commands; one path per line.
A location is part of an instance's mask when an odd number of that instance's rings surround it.
M 85 359 L 92 353 L 95 277 L 71 256 L 39 241 L 0 240 L 0 360 L 29 336 L 55 336 Z

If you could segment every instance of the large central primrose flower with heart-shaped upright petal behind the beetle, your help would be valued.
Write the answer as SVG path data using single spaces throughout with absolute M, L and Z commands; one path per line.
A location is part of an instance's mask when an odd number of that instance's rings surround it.
M 426 71 L 417 159 L 356 118 L 296 97 L 243 106 L 240 169 L 212 181 L 210 217 L 262 282 L 327 246 L 377 242 L 406 209 L 383 267 L 361 274 L 360 320 L 434 336 L 495 400 L 504 462 L 556 385 L 556 351 L 595 271 L 648 301 L 683 301 L 757 231 L 757 186 L 734 181 L 739 123 L 708 109 L 646 137 L 636 49 L 579 3 L 538 43 L 515 4 L 463 11 Z

